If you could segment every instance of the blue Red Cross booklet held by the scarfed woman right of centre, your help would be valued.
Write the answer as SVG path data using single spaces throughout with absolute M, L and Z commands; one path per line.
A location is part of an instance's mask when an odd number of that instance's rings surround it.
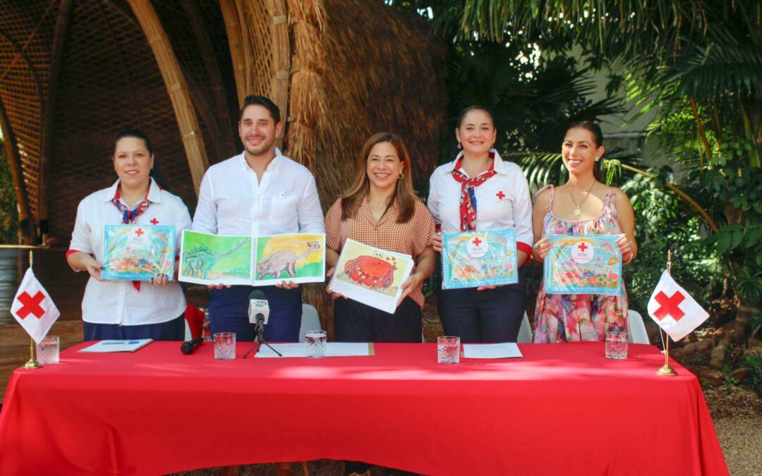
M 442 287 L 517 283 L 515 236 L 514 230 L 442 235 Z

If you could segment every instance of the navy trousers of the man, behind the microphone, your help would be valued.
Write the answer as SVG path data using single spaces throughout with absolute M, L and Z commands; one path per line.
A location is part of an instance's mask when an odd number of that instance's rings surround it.
M 255 324 L 248 322 L 248 296 L 259 289 L 267 298 L 270 318 L 264 326 L 267 342 L 299 342 L 302 325 L 302 288 L 283 289 L 275 286 L 230 286 L 209 290 L 209 320 L 212 334 L 235 332 L 235 340 L 257 339 Z

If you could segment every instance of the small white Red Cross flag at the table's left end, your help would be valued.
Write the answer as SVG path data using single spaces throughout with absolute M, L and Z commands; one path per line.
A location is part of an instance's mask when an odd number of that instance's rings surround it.
M 11 314 L 24 331 L 39 343 L 50 331 L 53 322 L 61 315 L 40 281 L 34 277 L 32 268 L 27 269 L 11 305 Z

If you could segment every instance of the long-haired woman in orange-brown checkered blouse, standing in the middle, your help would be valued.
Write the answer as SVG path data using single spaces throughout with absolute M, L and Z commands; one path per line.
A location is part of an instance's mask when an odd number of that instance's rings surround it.
M 397 134 L 374 134 L 357 158 L 353 184 L 325 216 L 325 259 L 330 268 L 327 275 L 333 274 L 347 238 L 410 254 L 415 267 L 402 283 L 402 296 L 392 315 L 332 293 L 337 341 L 421 341 L 421 287 L 434 272 L 433 233 L 434 219 L 413 190 L 405 144 Z

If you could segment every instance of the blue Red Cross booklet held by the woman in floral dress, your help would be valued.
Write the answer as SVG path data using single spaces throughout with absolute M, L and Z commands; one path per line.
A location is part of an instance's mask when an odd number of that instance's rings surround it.
M 546 292 L 554 294 L 620 294 L 622 256 L 616 236 L 549 236 L 545 260 Z

